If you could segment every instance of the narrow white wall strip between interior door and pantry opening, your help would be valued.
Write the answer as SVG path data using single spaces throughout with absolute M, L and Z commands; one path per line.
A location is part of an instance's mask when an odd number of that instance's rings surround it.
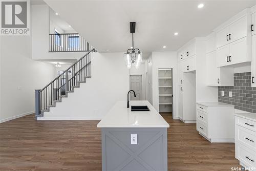
M 145 61 L 145 89 L 146 89 L 146 100 L 153 105 L 153 90 L 152 90 L 152 53 Z

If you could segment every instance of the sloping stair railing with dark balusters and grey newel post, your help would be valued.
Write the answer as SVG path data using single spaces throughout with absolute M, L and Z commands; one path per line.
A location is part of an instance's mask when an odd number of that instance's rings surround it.
M 75 88 L 80 87 L 81 82 L 86 82 L 91 78 L 91 53 L 77 60 L 66 71 L 52 80 L 41 90 L 35 90 L 35 117 L 43 117 L 44 112 L 49 112 L 62 98 L 67 98 L 69 93 L 73 93 Z

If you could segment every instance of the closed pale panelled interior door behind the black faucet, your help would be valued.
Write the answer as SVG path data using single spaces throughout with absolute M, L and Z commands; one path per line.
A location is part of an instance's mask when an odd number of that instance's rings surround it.
M 130 75 L 130 90 L 135 91 L 130 93 L 130 100 L 142 100 L 142 75 Z

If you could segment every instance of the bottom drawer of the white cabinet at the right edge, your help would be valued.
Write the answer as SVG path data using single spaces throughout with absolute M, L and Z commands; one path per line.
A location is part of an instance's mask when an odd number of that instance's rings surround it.
M 248 167 L 256 166 L 255 152 L 240 143 L 236 143 L 236 158 Z

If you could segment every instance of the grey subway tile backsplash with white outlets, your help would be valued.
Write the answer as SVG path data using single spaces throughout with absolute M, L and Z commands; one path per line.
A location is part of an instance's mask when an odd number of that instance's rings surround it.
M 221 96 L 224 91 L 224 96 Z M 228 96 L 232 92 L 232 97 Z M 221 86 L 219 102 L 233 104 L 235 109 L 256 113 L 256 88 L 251 87 L 251 72 L 235 73 L 234 86 Z

